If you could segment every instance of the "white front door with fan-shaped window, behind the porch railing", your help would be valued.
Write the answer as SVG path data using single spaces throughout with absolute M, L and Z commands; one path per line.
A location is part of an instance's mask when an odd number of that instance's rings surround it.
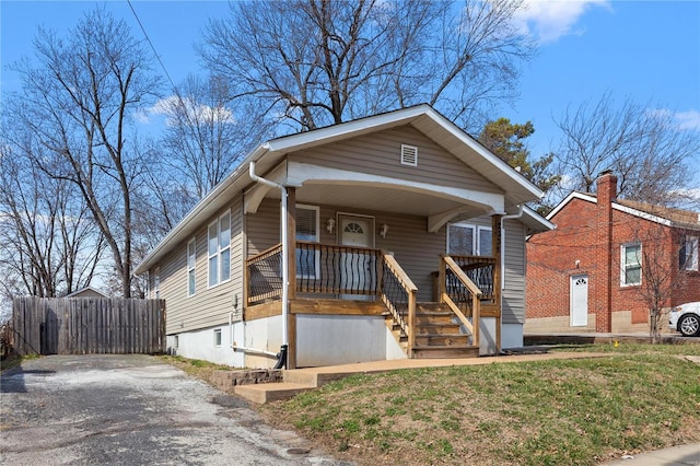
M 374 246 L 374 219 L 372 217 L 339 214 L 338 223 L 340 245 L 358 248 Z M 372 280 L 376 276 L 376 261 L 373 255 L 366 254 L 362 249 L 345 251 L 340 255 L 340 267 L 342 289 L 357 293 L 372 288 Z M 355 295 L 355 299 L 361 298 Z

